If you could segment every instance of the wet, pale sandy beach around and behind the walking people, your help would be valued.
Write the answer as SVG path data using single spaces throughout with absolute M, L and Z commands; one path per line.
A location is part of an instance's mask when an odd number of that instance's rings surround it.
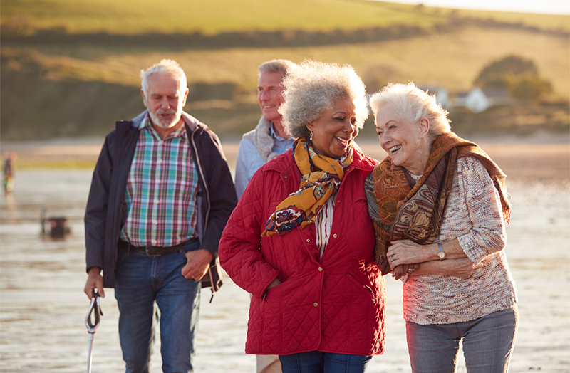
M 568 134 L 480 137 L 474 140 L 509 175 L 512 222 L 507 258 L 517 285 L 520 325 L 510 372 L 570 372 L 570 143 Z M 103 139 L 2 144 L 26 159 L 96 159 Z M 230 167 L 237 141 L 222 139 Z M 373 140 L 366 154 L 385 156 Z M 81 372 L 86 369 L 88 299 L 83 213 L 89 170 L 21 169 L 14 193 L 0 196 L 0 372 Z M 65 240 L 40 236 L 41 209 L 68 219 Z M 402 285 L 386 278 L 386 353 L 368 372 L 410 372 L 402 318 Z M 118 309 L 113 290 L 101 300 L 104 315 L 95 333 L 93 372 L 121 372 Z M 255 372 L 244 354 L 249 295 L 224 278 L 202 309 L 196 372 Z M 152 372 L 160 372 L 160 339 Z M 465 372 L 460 359 L 458 372 Z

